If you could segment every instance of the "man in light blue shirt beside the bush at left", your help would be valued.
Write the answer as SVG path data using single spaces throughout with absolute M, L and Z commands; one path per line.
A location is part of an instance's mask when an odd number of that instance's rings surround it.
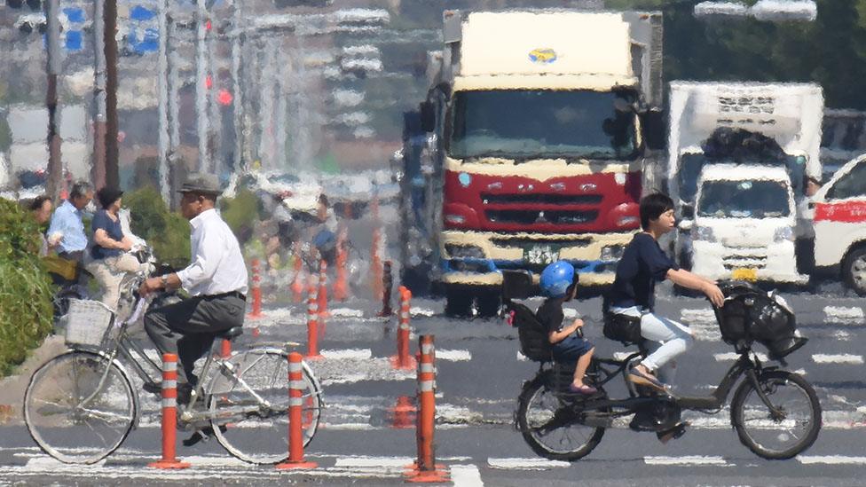
M 82 261 L 84 249 L 87 247 L 82 210 L 92 199 L 93 187 L 90 183 L 79 181 L 72 186 L 69 199 L 54 210 L 51 225 L 48 227 L 48 239 L 55 240 L 59 235 L 57 252 L 60 257 Z

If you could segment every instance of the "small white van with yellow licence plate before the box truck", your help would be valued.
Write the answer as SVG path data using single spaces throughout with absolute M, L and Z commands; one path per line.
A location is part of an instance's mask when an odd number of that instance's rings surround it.
M 785 169 L 709 164 L 698 177 L 694 219 L 680 227 L 681 250 L 692 271 L 709 279 L 806 284 L 797 271 L 796 224 Z

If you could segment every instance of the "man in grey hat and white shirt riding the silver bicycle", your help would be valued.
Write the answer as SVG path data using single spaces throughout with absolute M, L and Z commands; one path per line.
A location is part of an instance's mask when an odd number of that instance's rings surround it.
M 216 334 L 243 326 L 247 266 L 232 230 L 216 213 L 219 181 L 192 174 L 179 190 L 181 213 L 192 227 L 192 263 L 184 270 L 146 279 L 139 293 L 183 287 L 189 299 L 148 310 L 145 330 L 160 353 L 177 354 L 177 402 L 189 402 L 198 378 L 195 361 L 210 350 Z

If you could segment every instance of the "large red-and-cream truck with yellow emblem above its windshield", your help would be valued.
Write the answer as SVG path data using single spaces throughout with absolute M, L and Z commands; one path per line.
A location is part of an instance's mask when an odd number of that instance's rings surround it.
M 662 17 L 443 15 L 429 91 L 405 114 L 402 278 L 446 313 L 499 309 L 502 270 L 575 265 L 612 282 L 664 161 Z

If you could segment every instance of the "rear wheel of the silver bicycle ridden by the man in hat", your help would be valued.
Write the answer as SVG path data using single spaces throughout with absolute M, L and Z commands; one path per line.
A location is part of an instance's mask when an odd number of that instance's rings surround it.
M 240 460 L 272 464 L 288 458 L 288 355 L 255 349 L 228 360 L 210 385 L 211 425 L 217 441 Z M 254 394 L 255 393 L 255 394 Z M 303 444 L 319 428 L 324 403 L 319 381 L 303 367 Z

